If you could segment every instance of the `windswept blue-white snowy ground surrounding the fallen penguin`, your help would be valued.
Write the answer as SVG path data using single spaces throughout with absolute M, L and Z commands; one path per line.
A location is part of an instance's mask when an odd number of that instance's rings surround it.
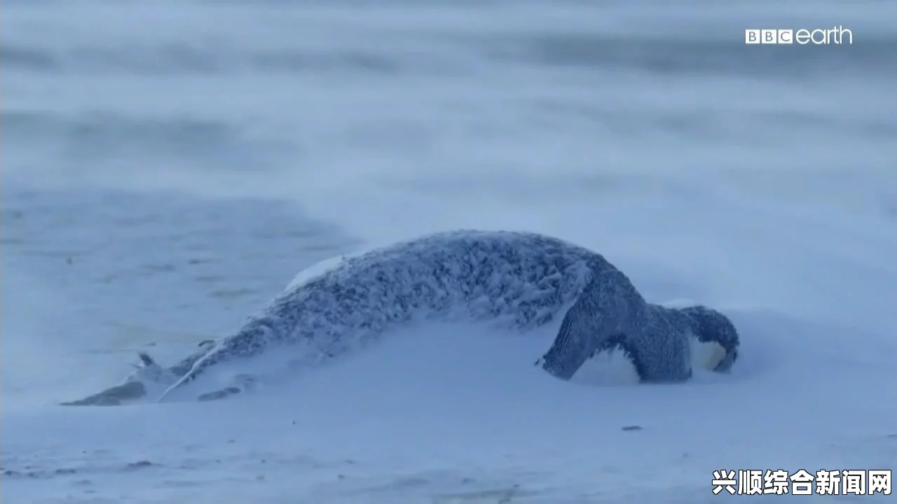
M 0 19 L 4 503 L 699 504 L 738 497 L 715 470 L 897 465 L 892 4 Z M 743 43 L 834 24 L 853 45 Z M 230 401 L 55 405 L 227 334 L 319 259 L 455 227 L 570 239 L 649 300 L 726 311 L 736 369 L 588 387 L 532 366 L 555 327 L 433 325 Z

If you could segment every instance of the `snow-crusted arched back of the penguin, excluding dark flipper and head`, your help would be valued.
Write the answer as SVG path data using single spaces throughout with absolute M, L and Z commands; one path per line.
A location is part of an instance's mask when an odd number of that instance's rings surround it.
M 608 269 L 587 248 L 515 231 L 448 231 L 335 256 L 298 274 L 170 390 L 213 365 L 246 363 L 274 347 L 309 368 L 419 317 L 543 326 Z

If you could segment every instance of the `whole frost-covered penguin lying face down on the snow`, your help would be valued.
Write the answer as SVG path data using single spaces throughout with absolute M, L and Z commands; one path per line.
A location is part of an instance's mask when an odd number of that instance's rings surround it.
M 649 304 L 588 248 L 530 232 L 457 230 L 313 266 L 233 335 L 171 368 L 144 355 L 126 384 L 138 384 L 132 395 L 165 388 L 162 401 L 219 398 L 262 375 L 340 359 L 412 320 L 489 320 L 525 331 L 561 318 L 538 361 L 557 378 L 612 350 L 622 350 L 644 382 L 690 378 L 692 352 L 705 343 L 714 350 L 702 367 L 727 370 L 737 356 L 726 317 Z M 279 369 L 271 369 L 272 355 L 281 357 Z

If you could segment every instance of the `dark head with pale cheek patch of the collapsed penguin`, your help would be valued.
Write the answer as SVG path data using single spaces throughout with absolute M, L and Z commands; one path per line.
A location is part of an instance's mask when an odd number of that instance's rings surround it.
M 738 359 L 738 331 L 725 315 L 703 306 L 679 308 L 691 325 L 695 367 L 726 372 Z

